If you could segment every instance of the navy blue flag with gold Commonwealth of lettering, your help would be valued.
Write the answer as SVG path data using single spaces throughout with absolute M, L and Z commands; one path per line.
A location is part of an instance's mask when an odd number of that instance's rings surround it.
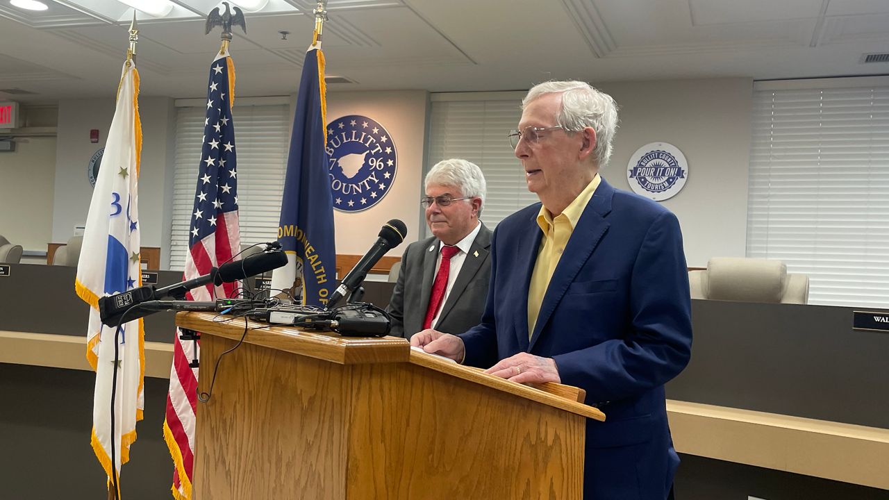
M 301 294 L 303 303 L 316 306 L 324 306 L 336 287 L 325 93 L 324 52 L 316 32 L 302 65 L 278 225 L 287 265 L 272 273 L 271 285 Z

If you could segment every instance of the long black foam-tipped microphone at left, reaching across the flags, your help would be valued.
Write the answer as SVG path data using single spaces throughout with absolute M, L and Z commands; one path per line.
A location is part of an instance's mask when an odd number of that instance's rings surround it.
M 171 286 L 164 286 L 163 288 L 140 286 L 139 288 L 133 288 L 122 294 L 101 297 L 99 299 L 99 317 L 102 323 L 108 325 L 108 327 L 116 327 L 120 319 L 123 318 L 124 313 L 137 304 L 142 307 L 141 304 L 145 302 L 160 302 L 158 299 L 163 299 L 164 297 L 173 297 L 174 299 L 179 299 L 181 301 L 185 299 L 185 294 L 188 290 L 207 286 L 211 283 L 220 286 L 223 283 L 248 278 L 269 270 L 283 267 L 286 263 L 287 255 L 280 250 L 274 250 L 267 253 L 251 255 L 243 261 L 222 264 L 218 270 L 216 268 L 211 268 L 210 272 L 204 274 L 204 276 L 198 276 L 197 278 L 189 279 L 188 281 L 176 283 Z M 148 309 L 151 306 L 149 305 L 145 307 Z M 133 313 L 131 313 L 132 317 L 129 320 L 139 319 L 156 310 L 165 310 L 165 308 L 160 305 L 154 307 L 160 307 L 160 309 L 133 311 Z

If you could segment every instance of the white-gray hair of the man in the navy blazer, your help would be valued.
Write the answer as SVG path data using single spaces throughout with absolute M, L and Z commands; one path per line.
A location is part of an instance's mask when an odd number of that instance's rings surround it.
M 612 141 L 617 130 L 617 103 L 612 96 L 586 82 L 544 82 L 534 85 L 522 100 L 522 109 L 546 93 L 562 94 L 562 109 L 556 121 L 566 132 L 580 132 L 586 127 L 596 131 L 593 155 L 600 168 L 611 159 Z

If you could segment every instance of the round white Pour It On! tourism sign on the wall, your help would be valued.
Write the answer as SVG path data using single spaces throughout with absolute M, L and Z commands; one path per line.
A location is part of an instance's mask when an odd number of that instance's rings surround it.
M 688 179 L 685 155 L 667 142 L 645 144 L 629 157 L 627 167 L 630 189 L 654 201 L 675 197 Z

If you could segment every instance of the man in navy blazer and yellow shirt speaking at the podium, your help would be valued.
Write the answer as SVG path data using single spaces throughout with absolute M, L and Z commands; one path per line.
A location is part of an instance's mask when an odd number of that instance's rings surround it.
M 613 99 L 583 82 L 547 82 L 510 133 L 541 203 L 493 233 L 482 322 L 424 330 L 413 345 L 517 383 L 587 391 L 584 498 L 663 500 L 679 458 L 664 383 L 688 364 L 691 298 L 674 214 L 599 175 L 617 128 Z

